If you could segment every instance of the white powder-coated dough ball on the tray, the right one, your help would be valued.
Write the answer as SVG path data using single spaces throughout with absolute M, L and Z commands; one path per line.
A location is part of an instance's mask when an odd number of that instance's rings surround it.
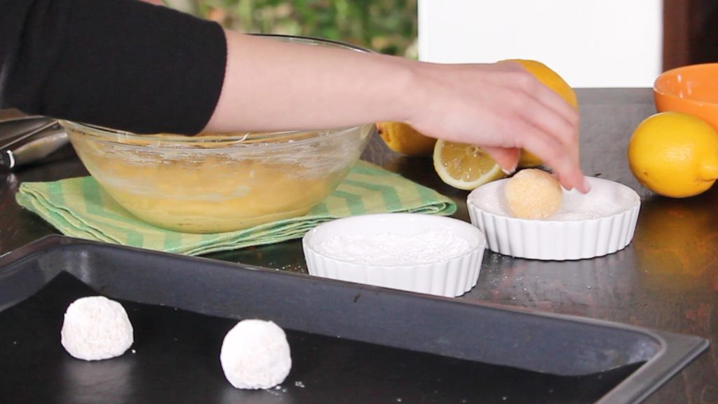
M 237 323 L 225 336 L 220 362 L 238 389 L 269 389 L 284 382 L 292 368 L 284 330 L 264 320 Z

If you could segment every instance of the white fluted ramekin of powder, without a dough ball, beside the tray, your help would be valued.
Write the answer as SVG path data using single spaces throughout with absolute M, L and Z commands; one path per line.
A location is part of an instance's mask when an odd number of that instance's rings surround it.
M 432 229 L 445 229 L 453 237 L 465 239 L 469 246 L 467 252 L 443 260 L 383 265 L 331 257 L 319 249 L 321 243 L 346 235 L 411 236 Z M 426 214 L 351 216 L 320 224 L 302 239 L 309 275 L 446 297 L 463 295 L 476 285 L 485 245 L 483 234 L 475 226 L 458 219 Z

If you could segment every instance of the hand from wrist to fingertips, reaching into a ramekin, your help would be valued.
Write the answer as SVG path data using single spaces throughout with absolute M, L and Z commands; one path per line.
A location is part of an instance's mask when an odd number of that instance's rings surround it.
M 413 114 L 420 132 L 483 147 L 505 171 L 524 148 L 554 170 L 564 188 L 589 190 L 579 167 L 579 114 L 514 62 L 414 65 Z

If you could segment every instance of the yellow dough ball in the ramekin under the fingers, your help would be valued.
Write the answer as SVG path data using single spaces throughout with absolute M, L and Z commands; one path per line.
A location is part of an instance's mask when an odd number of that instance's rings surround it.
M 547 219 L 559 211 L 563 198 L 559 181 L 535 168 L 509 178 L 504 193 L 511 213 L 521 219 Z

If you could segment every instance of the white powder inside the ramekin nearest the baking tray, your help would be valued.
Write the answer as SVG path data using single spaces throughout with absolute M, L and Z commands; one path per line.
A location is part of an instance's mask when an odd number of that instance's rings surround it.
M 317 252 L 367 265 L 420 265 L 459 257 L 470 251 L 466 239 L 448 229 L 416 234 L 353 234 L 317 244 Z

